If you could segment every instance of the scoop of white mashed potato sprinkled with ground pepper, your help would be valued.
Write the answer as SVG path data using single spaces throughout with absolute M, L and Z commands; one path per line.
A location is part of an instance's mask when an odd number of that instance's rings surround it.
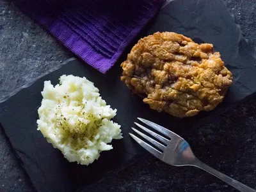
M 113 149 L 112 139 L 122 138 L 120 125 L 111 121 L 116 109 L 106 105 L 85 77 L 62 75 L 55 87 L 45 81 L 42 96 L 38 130 L 68 161 L 89 165 L 101 151 Z

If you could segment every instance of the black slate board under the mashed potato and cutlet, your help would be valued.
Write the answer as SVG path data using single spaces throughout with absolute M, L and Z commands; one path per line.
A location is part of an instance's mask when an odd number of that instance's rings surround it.
M 95 181 L 102 179 L 100 182 L 104 182 L 104 177 L 109 172 L 120 170 L 136 161 L 145 154 L 145 151 L 128 135 L 136 117 L 150 119 L 183 135 L 189 129 L 195 129 L 196 126 L 210 121 L 216 115 L 255 94 L 256 67 L 253 54 L 221 0 L 173 1 L 161 10 L 147 33 L 152 34 L 155 31 L 175 31 L 196 41 L 213 43 L 234 74 L 234 84 L 229 89 L 225 101 L 212 112 L 177 119 L 150 110 L 141 98 L 131 94 L 120 81 L 119 64 L 116 64 L 107 75 L 102 75 L 90 66 L 71 59 L 48 75 L 21 87 L 19 91 L 0 101 L 1 126 L 36 191 L 93 191 L 99 184 L 95 184 Z M 58 78 L 63 74 L 92 80 L 99 87 L 104 100 L 118 110 L 115 121 L 121 124 L 124 139 L 115 140 L 114 149 L 102 152 L 99 160 L 90 166 L 68 163 L 61 152 L 53 149 L 42 134 L 36 131 L 37 109 L 42 100 L 40 91 L 43 89 L 44 81 L 51 80 L 52 84 L 57 84 Z

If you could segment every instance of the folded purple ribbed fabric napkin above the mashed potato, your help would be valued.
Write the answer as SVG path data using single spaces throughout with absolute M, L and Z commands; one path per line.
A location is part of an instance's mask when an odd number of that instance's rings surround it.
M 161 0 L 14 0 L 63 45 L 102 73 L 156 15 Z

